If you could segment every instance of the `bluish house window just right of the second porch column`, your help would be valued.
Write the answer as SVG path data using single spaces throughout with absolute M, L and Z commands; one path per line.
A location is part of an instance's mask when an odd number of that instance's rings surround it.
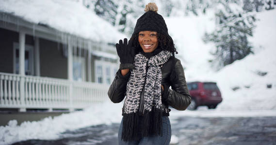
M 73 80 L 85 80 L 85 61 L 81 57 L 73 57 Z

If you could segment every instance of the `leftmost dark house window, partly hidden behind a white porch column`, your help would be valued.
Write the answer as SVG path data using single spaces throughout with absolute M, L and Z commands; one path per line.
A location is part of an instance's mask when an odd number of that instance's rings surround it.
M 34 75 L 33 46 L 25 44 L 25 74 Z M 14 73 L 19 74 L 19 44 L 14 43 Z

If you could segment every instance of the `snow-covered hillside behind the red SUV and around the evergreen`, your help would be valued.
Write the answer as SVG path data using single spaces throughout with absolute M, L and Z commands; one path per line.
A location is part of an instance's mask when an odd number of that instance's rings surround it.
M 276 10 L 256 14 L 260 20 L 256 22 L 254 37 L 250 38 L 255 54 L 227 65 L 219 72 L 212 71 L 208 63 L 212 57 L 209 52 L 215 46 L 206 45 L 201 40 L 205 31 L 214 29 L 212 14 L 166 19 L 182 57 L 182 65 L 186 68 L 186 80 L 217 82 L 224 99 L 218 110 L 276 109 L 275 14 Z M 270 85 L 272 88 L 267 88 Z

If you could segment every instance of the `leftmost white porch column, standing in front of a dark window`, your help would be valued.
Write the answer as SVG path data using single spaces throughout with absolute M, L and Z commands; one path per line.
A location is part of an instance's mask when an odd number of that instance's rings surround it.
M 20 74 L 20 102 L 19 112 L 25 112 L 25 32 L 19 32 L 19 74 Z

